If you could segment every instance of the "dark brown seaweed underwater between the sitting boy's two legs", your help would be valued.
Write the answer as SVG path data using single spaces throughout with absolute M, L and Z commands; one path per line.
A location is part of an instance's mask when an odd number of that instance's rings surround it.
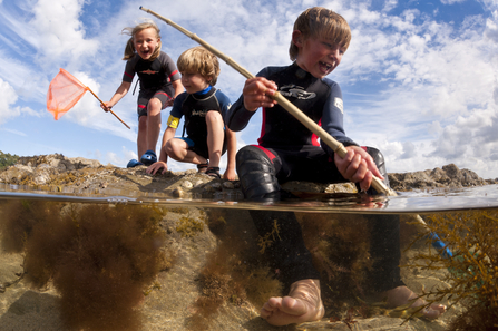
M 367 295 L 370 257 L 369 223 L 361 215 L 296 213 L 306 247 L 322 278 L 322 300 L 329 314 L 358 304 Z M 362 231 L 363 230 L 363 231 Z M 361 235 L 359 235 L 361 233 Z

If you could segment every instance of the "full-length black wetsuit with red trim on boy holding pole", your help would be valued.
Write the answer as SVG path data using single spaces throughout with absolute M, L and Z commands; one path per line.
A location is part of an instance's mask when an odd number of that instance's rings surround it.
M 344 146 L 358 146 L 344 133 L 342 93 L 336 82 L 328 78 L 318 79 L 296 64 L 267 67 L 257 76 L 275 81 L 283 96 Z M 244 99 L 241 96 L 225 114 L 225 123 L 232 130 L 241 130 L 255 113 L 244 108 Z M 275 105 L 273 108 L 263 109 L 262 113 L 258 145 L 245 146 L 236 156 L 237 174 L 246 198 L 279 199 L 282 196 L 280 183 L 286 181 L 346 182 L 335 166 L 332 148 L 319 143 L 318 137 L 283 107 Z M 387 181 L 382 154 L 374 148 L 365 149 L 372 155 Z M 389 185 L 388 182 L 385 184 Z M 282 240 L 273 243 L 270 255 L 273 267 L 280 270 L 286 286 L 297 280 L 320 278 L 311 263 L 311 254 L 304 246 L 294 213 L 251 211 L 251 214 L 261 236 L 274 228 L 274 220 L 277 220 L 280 228 L 283 230 Z M 371 252 L 379 257 L 374 265 L 379 274 L 372 274 L 372 282 L 375 290 L 385 291 L 402 285 L 398 267 L 399 220 L 380 217 L 383 221 L 373 221 L 372 231 L 389 240 L 373 238 L 375 247 L 372 247 Z

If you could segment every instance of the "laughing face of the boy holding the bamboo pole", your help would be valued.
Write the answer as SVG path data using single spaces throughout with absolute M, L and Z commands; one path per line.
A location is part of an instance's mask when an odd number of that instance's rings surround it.
M 316 78 L 324 78 L 341 62 L 345 49 L 323 37 L 307 37 L 296 30 L 292 41 L 299 48 L 297 66 Z

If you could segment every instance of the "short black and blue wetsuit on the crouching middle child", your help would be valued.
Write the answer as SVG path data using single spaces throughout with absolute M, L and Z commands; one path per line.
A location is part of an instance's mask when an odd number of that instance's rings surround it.
M 185 140 L 188 144 L 188 148 L 208 159 L 206 114 L 211 110 L 225 114 L 231 105 L 228 97 L 212 86 L 195 94 L 183 93 L 175 99 L 168 126 L 177 128 L 179 119 L 185 116 L 182 137 L 185 136 L 186 132 L 188 139 Z M 226 137 L 223 143 L 222 154 L 225 152 Z

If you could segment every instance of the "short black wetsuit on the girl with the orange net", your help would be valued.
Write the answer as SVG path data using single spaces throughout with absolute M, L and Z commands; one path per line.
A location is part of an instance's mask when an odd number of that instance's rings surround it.
M 162 109 L 164 109 L 166 101 L 173 99 L 175 95 L 172 81 L 182 78 L 175 62 L 164 51 L 154 61 L 144 60 L 136 53 L 126 62 L 123 80 L 133 82 L 135 74 L 140 79 L 140 91 L 137 101 L 138 117 L 147 116 L 147 104 L 153 97 L 160 100 Z

